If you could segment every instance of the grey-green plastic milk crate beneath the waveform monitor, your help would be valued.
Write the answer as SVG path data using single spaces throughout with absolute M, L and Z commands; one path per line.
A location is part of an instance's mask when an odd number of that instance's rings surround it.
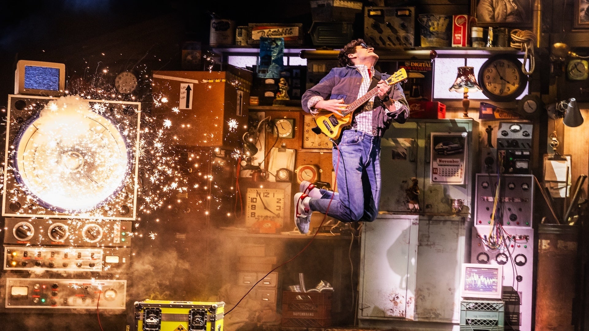
M 503 331 L 505 302 L 500 300 L 462 300 L 460 331 Z

